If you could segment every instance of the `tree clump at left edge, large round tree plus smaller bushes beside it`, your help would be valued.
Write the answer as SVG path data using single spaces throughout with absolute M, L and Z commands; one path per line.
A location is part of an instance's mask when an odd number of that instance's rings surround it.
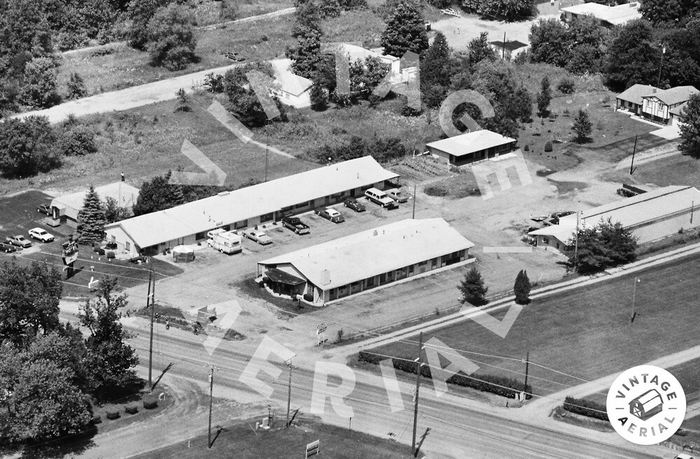
M 28 177 L 61 165 L 64 156 L 97 151 L 94 131 L 71 118 L 52 127 L 45 117 L 0 122 L 0 174 Z

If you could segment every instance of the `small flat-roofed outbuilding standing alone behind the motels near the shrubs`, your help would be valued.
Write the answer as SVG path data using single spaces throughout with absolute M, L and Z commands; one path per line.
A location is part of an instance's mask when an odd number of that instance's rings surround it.
M 445 158 L 450 166 L 483 161 L 516 149 L 517 141 L 487 129 L 465 132 L 425 145 L 430 153 Z

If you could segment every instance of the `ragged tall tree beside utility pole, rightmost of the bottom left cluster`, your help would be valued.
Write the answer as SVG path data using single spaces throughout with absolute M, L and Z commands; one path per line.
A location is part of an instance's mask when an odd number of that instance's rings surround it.
M 126 294 L 120 292 L 117 279 L 106 277 L 99 283 L 97 297 L 81 305 L 80 324 L 90 330 L 86 367 L 95 381 L 99 398 L 127 386 L 138 364 L 136 351 L 125 343 L 126 333 L 119 319 L 120 309 L 127 306 Z

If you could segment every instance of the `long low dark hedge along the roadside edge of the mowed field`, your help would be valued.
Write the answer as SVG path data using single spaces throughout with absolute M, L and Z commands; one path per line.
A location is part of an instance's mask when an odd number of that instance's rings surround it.
M 363 362 L 371 363 L 374 365 L 379 364 L 380 361 L 384 360 L 386 357 L 376 355 L 369 352 L 360 351 L 359 359 Z M 397 370 L 405 371 L 408 373 L 416 373 L 416 367 L 418 364 L 416 362 L 411 362 L 402 359 L 392 359 L 394 368 Z M 421 375 L 426 378 L 431 378 L 430 367 L 421 367 Z M 478 379 L 475 379 L 478 378 Z M 496 395 L 507 398 L 516 398 L 517 395 L 523 391 L 523 383 L 511 378 L 505 378 L 502 376 L 494 375 L 478 375 L 478 376 L 466 376 L 462 373 L 457 373 L 452 375 L 447 379 L 450 384 L 456 384 L 458 386 L 471 387 L 484 392 L 491 392 Z M 527 398 L 531 398 L 532 386 L 527 385 L 524 389 L 527 393 Z

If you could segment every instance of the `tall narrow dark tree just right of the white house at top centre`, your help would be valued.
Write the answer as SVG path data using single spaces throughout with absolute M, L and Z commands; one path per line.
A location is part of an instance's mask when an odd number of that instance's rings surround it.
M 450 47 L 442 32 L 437 32 L 433 43 L 420 61 L 421 93 L 428 107 L 437 107 L 445 99 L 451 77 Z

